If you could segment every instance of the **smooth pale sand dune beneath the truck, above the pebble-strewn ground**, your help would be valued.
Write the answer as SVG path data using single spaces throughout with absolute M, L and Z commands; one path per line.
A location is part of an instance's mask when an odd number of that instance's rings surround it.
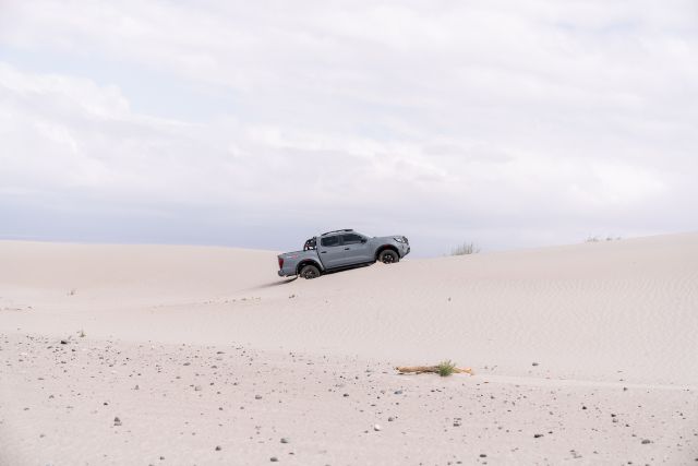
M 56 335 L 452 358 L 522 374 L 698 384 L 698 235 L 275 276 L 274 252 L 0 243 L 0 307 Z M 617 375 L 623 371 L 624 375 Z

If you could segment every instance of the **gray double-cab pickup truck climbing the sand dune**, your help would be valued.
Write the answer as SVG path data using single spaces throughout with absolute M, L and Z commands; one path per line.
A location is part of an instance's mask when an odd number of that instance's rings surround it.
M 404 236 L 370 238 L 352 229 L 328 231 L 305 241 L 302 251 L 278 255 L 279 276 L 315 278 L 324 272 L 373 264 L 398 262 L 410 252 Z

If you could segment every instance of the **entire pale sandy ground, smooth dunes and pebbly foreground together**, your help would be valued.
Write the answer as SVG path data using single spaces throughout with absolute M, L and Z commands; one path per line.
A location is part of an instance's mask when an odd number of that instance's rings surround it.
M 0 263 L 0 465 L 698 464 L 696 234 L 315 280 L 226 248 Z M 394 370 L 443 359 L 476 375 Z

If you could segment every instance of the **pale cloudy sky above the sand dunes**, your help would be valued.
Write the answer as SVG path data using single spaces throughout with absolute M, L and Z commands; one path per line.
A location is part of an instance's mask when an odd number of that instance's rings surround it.
M 0 239 L 698 230 L 698 3 L 0 0 Z

